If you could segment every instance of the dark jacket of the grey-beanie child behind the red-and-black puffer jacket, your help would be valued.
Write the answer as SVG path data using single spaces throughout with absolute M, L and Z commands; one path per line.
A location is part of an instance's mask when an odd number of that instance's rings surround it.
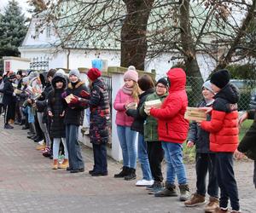
M 201 103 L 197 105 L 197 107 L 206 106 L 206 101 L 201 101 Z M 207 120 L 211 120 L 210 114 L 207 114 Z M 188 141 L 193 141 L 195 143 L 196 153 L 212 153 L 210 151 L 209 132 L 207 132 L 206 130 L 202 130 L 195 121 L 193 121 L 189 125 Z

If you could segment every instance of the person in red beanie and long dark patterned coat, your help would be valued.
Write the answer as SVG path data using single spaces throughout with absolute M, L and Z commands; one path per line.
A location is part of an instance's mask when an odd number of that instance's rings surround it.
M 91 176 L 108 176 L 107 143 L 109 137 L 110 107 L 107 86 L 102 72 L 91 68 L 87 72 L 90 82 L 89 100 L 79 98 L 83 106 L 90 107 L 90 142 L 93 147 L 94 167 Z M 84 93 L 83 93 L 84 94 Z M 85 95 L 85 94 L 84 94 Z

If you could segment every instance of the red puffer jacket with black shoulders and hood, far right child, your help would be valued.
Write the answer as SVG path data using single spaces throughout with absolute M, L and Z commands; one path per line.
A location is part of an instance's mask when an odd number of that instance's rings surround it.
M 229 83 L 215 95 L 211 121 L 203 121 L 201 128 L 210 132 L 212 152 L 234 153 L 238 145 L 239 90 Z

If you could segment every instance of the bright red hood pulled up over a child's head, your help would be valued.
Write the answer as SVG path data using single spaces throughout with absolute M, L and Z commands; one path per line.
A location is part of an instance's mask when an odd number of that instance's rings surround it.
M 166 73 L 170 82 L 169 92 L 183 90 L 186 86 L 186 73 L 182 68 L 172 68 Z

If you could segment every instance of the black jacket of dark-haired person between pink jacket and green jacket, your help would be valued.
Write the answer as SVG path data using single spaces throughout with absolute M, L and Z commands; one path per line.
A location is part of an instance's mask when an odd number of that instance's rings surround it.
M 142 135 L 144 135 L 144 121 L 146 120 L 146 117 L 143 117 L 140 114 L 140 108 L 143 106 L 143 103 L 146 101 L 147 96 L 153 93 L 154 93 L 154 88 L 144 91 L 143 94 L 139 95 L 139 102 L 137 105 L 137 109 L 136 110 L 128 109 L 126 111 L 127 115 L 134 118 L 134 121 L 131 124 L 131 130 L 135 130 Z

